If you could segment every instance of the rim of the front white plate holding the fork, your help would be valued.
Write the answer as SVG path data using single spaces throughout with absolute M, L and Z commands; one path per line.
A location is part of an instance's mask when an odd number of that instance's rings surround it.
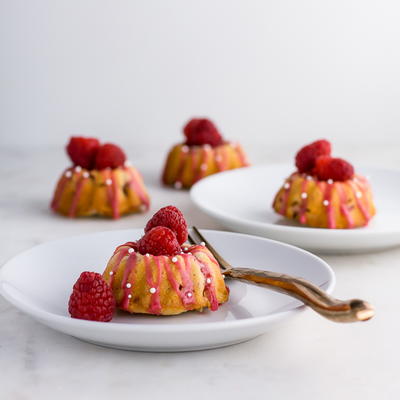
M 134 324 L 134 323 L 118 323 L 118 322 L 108 322 L 108 323 L 103 323 L 103 322 L 98 322 L 98 321 L 86 321 L 86 320 L 80 320 L 80 319 L 75 319 L 71 318 L 67 315 L 58 315 L 54 314 L 52 312 L 43 310 L 37 306 L 32 306 L 22 302 L 16 296 L 13 296 L 9 290 L 5 289 L 4 286 L 8 285 L 11 286 L 14 290 L 18 291 L 21 293 L 21 291 L 18 288 L 15 288 L 15 286 L 7 281 L 6 279 L 6 273 L 7 269 L 11 268 L 10 265 L 12 265 L 15 260 L 17 260 L 19 257 L 29 253 L 33 249 L 37 249 L 40 247 L 45 247 L 48 245 L 51 245 L 53 243 L 57 242 L 64 242 L 65 240 L 72 240 L 72 239 L 77 239 L 77 238 L 82 238 L 82 237 L 88 237 L 88 236 L 95 236 L 95 235 L 101 235 L 101 234 L 111 234 L 111 233 L 116 233 L 116 232 L 132 232 L 132 231 L 142 231 L 141 228 L 130 228 L 130 229 L 116 229 L 116 230 L 107 230 L 107 231 L 98 231 L 98 232 L 91 232 L 91 233 L 85 233 L 85 234 L 79 234 L 79 235 L 73 235 L 73 236 L 67 236 L 64 238 L 60 239 L 54 239 L 54 240 L 49 240 L 45 241 L 43 243 L 40 243 L 38 245 L 32 246 L 29 249 L 26 249 L 17 255 L 11 257 L 8 261 L 6 261 L 0 268 L 0 294 L 3 296 L 3 298 L 12 304 L 14 307 L 16 307 L 18 310 L 22 311 L 23 313 L 30 315 L 32 318 L 39 320 L 40 322 L 44 323 L 45 321 L 49 322 L 59 322 L 62 323 L 63 325 L 67 324 L 74 324 L 76 326 L 81 326 L 82 328 L 93 328 L 95 329 L 101 329 L 101 330 L 106 330 L 106 331 L 131 331 L 131 332 L 137 332 L 137 333 L 145 333 L 145 332 L 156 332 L 157 333 L 174 333 L 174 332 L 205 332 L 205 331 L 214 331 L 214 330 L 225 330 L 225 329 L 232 329 L 232 328 L 245 328 L 253 325 L 260 325 L 263 323 L 270 322 L 270 320 L 279 320 L 281 318 L 284 318 L 285 316 L 289 316 L 291 314 L 296 314 L 300 311 L 303 311 L 306 309 L 306 306 L 303 304 L 299 304 L 296 307 L 289 309 L 289 310 L 284 310 L 284 311 L 278 311 L 278 312 L 273 312 L 267 315 L 263 316 L 258 316 L 258 317 L 250 317 L 246 319 L 240 319 L 240 320 L 228 320 L 228 321 L 214 321 L 214 322 L 195 322 L 195 323 L 187 323 L 187 324 L 160 324 L 160 323 L 152 323 L 152 324 Z M 247 237 L 253 237 L 258 240 L 262 241 L 268 241 L 274 245 L 278 245 L 281 247 L 286 247 L 290 248 L 292 251 L 298 251 L 300 253 L 304 253 L 307 256 L 311 256 L 311 258 L 314 258 L 316 261 L 318 261 L 321 264 L 321 267 L 325 269 L 325 271 L 328 273 L 329 279 L 327 282 L 324 282 L 323 284 L 327 284 L 326 289 L 324 289 L 327 293 L 332 293 L 335 285 L 336 285 L 336 276 L 335 272 L 333 271 L 332 267 L 322 258 L 318 257 L 317 255 L 304 250 L 302 248 L 299 248 L 297 246 L 287 244 L 284 242 L 280 242 L 278 240 L 273 240 L 261 236 L 256 236 L 256 235 L 251 235 L 247 233 L 238 233 L 238 232 L 230 232 L 230 231 L 221 231 L 221 230 L 215 230 L 215 229 L 202 229 L 204 232 L 216 232 L 217 234 L 222 234 L 222 235 L 234 235 L 234 236 L 247 236 Z M 22 293 L 23 294 L 23 293 Z M 28 309 L 28 311 L 27 311 Z M 164 317 L 162 317 L 164 318 Z M 167 316 L 165 317 L 167 318 Z

